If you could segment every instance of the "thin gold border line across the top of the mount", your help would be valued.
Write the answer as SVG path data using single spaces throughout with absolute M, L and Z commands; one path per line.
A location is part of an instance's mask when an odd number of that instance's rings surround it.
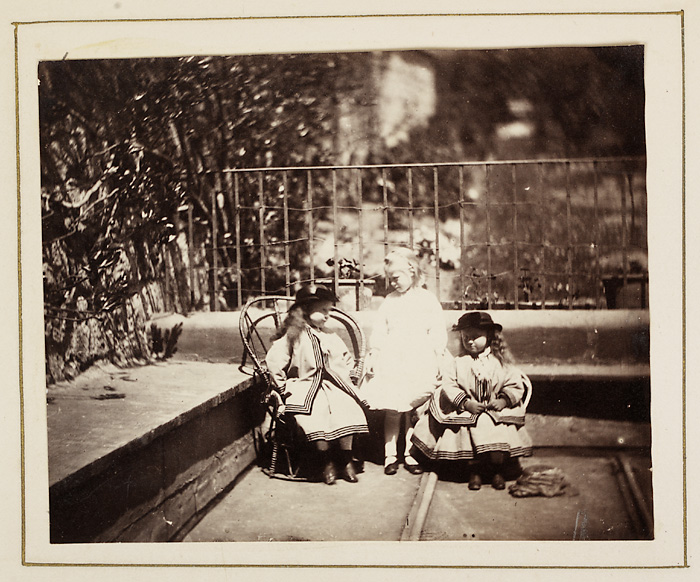
M 282 15 L 282 16 L 212 16 L 208 18 L 114 18 L 114 19 L 69 19 L 69 20 L 27 20 L 13 22 L 17 25 L 31 24 L 75 24 L 96 22 L 223 22 L 223 21 L 248 21 L 248 20 L 320 20 L 338 18 L 415 18 L 415 17 L 445 17 L 445 16 L 662 16 L 679 15 L 678 11 L 659 12 L 463 12 L 463 13 L 414 13 L 414 14 L 307 14 L 307 15 Z

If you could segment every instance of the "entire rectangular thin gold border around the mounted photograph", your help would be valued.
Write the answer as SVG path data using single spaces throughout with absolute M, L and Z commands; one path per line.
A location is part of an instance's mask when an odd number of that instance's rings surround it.
M 688 568 L 688 518 L 687 518 L 687 451 L 686 451 L 686 76 L 685 76 L 685 12 L 662 11 L 662 12 L 530 12 L 530 13 L 437 13 L 437 14 L 358 14 L 358 15 L 304 15 L 304 16 L 251 16 L 251 17 L 213 17 L 213 18 L 170 18 L 170 19 L 104 19 L 104 20 L 46 20 L 46 21 L 25 21 L 13 22 L 14 26 L 14 48 L 15 48 L 15 129 L 17 148 L 17 273 L 18 273 L 18 324 L 19 324 L 19 398 L 20 398 L 20 476 L 21 476 L 21 557 L 24 566 L 48 566 L 48 567 L 196 567 L 196 568 L 309 568 L 309 567 L 329 567 L 345 568 L 350 565 L 326 565 L 318 564 L 89 564 L 89 563 L 48 563 L 48 562 L 27 562 L 26 561 L 26 497 L 25 497 L 25 439 L 24 439 L 24 375 L 23 375 L 23 329 L 22 329 L 22 245 L 21 245 L 21 189 L 20 189 L 20 120 L 19 120 L 19 27 L 32 24 L 70 24 L 70 23 L 119 23 L 119 22 L 208 22 L 208 21 L 253 21 L 253 20 L 319 20 L 319 19 L 339 19 L 339 18 L 413 18 L 413 17 L 454 17 L 454 16 L 664 16 L 676 15 L 681 19 L 681 65 L 682 65 L 682 426 L 683 426 L 683 542 L 684 542 L 684 563 L 683 565 L 660 565 L 660 566 L 441 566 L 441 565 L 356 565 L 356 568 L 437 568 L 437 569 L 541 569 L 541 570 L 660 570 Z

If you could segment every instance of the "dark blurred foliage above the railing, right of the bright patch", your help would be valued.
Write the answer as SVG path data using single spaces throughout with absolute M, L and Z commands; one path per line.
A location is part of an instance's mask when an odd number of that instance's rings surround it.
M 643 155 L 644 47 L 431 51 L 438 106 L 392 161 Z M 514 111 L 521 101 L 529 111 Z M 497 128 L 531 122 L 534 136 L 499 151 Z M 517 141 L 517 140 L 515 140 Z

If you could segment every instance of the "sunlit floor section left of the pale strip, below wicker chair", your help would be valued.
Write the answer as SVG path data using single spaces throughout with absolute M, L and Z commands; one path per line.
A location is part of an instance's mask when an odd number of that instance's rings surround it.
M 358 483 L 271 479 L 251 468 L 184 538 L 199 541 L 397 541 L 420 477 L 366 463 Z

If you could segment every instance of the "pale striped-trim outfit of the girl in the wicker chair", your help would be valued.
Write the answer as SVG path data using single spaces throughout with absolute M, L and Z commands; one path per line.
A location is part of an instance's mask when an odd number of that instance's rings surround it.
M 286 335 L 276 340 L 265 361 L 288 395 L 287 413 L 309 441 L 369 432 L 364 403 L 350 380 L 352 356 L 340 336 L 306 326 L 292 349 Z

